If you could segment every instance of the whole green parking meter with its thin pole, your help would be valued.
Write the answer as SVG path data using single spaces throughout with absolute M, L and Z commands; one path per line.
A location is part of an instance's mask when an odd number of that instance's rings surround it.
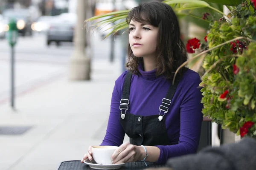
M 10 20 L 9 22 L 9 31 L 7 32 L 7 39 L 9 45 L 11 46 L 11 106 L 14 109 L 15 103 L 15 69 L 14 69 L 14 46 L 16 45 L 18 37 L 18 29 L 16 26 L 15 20 Z

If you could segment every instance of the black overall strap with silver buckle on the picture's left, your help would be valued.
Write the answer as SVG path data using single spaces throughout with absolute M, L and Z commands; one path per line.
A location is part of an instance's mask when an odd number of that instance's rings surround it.
M 120 100 L 120 106 L 119 109 L 121 110 L 121 113 L 123 113 L 123 111 L 128 110 L 128 105 L 129 105 L 129 96 L 130 96 L 130 84 L 131 84 L 131 76 L 132 73 L 131 71 L 128 71 L 126 76 L 125 76 L 125 81 L 123 84 L 123 88 L 122 88 L 122 99 Z

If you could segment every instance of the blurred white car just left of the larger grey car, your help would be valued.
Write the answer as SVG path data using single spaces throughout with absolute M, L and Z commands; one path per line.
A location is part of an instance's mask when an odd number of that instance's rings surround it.
M 32 23 L 31 28 L 33 31 L 46 33 L 53 21 L 54 16 L 41 16 L 36 22 Z

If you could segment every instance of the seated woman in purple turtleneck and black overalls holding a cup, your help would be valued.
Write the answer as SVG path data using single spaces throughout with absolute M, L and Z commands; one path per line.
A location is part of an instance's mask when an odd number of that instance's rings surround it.
M 101 145 L 120 146 L 112 155 L 113 164 L 166 163 L 170 157 L 195 153 L 203 119 L 201 80 L 182 68 L 172 85 L 175 71 L 187 59 L 174 11 L 165 3 L 142 3 L 126 21 L 128 71 L 115 82 Z M 133 144 L 122 144 L 125 133 Z M 93 159 L 90 147 L 81 162 L 85 159 Z

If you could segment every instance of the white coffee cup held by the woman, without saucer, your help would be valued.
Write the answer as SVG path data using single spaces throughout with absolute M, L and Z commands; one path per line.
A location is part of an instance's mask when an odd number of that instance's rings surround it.
M 93 159 L 97 164 L 112 164 L 111 156 L 117 149 L 117 146 L 93 146 Z

